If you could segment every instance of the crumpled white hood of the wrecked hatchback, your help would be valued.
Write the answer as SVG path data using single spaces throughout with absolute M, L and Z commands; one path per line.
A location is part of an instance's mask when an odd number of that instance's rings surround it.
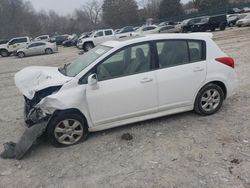
M 15 75 L 17 88 L 28 99 L 33 99 L 37 91 L 52 86 L 60 86 L 70 80 L 72 78 L 61 74 L 57 67 L 27 67 Z

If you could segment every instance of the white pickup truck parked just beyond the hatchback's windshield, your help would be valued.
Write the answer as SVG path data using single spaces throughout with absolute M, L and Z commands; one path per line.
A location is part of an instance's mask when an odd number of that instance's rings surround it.
M 88 38 L 78 40 L 77 47 L 87 52 L 90 49 L 94 48 L 96 45 L 112 39 L 115 39 L 114 30 L 102 29 L 93 32 Z

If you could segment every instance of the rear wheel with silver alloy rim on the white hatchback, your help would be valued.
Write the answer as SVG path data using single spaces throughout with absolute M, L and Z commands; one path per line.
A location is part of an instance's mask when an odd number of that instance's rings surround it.
M 196 96 L 194 111 L 203 116 L 215 114 L 220 110 L 224 98 L 225 94 L 220 86 L 207 84 Z

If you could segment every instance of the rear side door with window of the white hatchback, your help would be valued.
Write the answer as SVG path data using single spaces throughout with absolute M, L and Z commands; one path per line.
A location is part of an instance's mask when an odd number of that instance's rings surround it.
M 206 78 L 206 49 L 203 41 L 156 42 L 159 57 L 159 110 L 193 105 L 195 94 Z

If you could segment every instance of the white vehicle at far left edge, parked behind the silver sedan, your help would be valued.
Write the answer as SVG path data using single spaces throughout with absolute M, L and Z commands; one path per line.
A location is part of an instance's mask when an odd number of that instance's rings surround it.
M 29 37 L 17 37 L 11 39 L 8 43 L 0 45 L 0 55 L 2 57 L 8 57 L 20 48 L 25 48 L 30 43 Z

